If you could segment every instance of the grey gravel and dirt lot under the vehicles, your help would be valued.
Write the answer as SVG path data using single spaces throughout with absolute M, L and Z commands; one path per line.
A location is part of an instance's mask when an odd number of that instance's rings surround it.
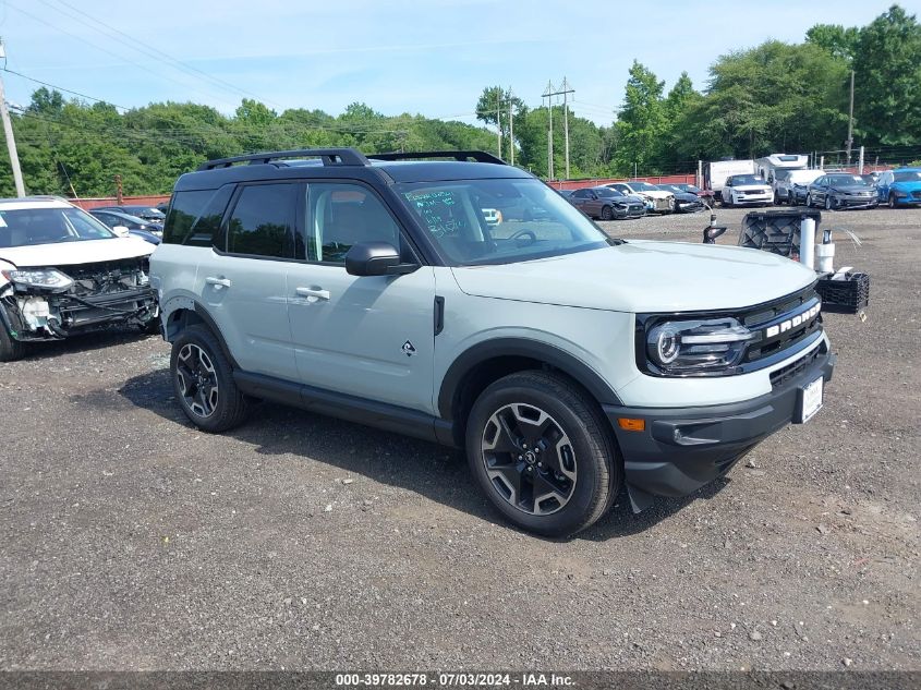
M 921 210 L 824 223 L 873 277 L 865 323 L 826 317 L 825 409 L 565 542 L 508 528 L 429 444 L 268 404 L 198 433 L 154 337 L 0 365 L 0 668 L 921 669 Z

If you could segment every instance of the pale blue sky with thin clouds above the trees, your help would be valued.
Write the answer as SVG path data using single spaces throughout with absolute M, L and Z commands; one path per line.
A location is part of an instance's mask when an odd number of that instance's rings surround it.
M 563 77 L 572 110 L 610 124 L 637 59 L 666 82 L 817 23 L 862 26 L 892 0 L 562 2 L 555 0 L 0 0 L 7 70 L 133 108 L 172 100 L 230 114 L 242 98 L 278 112 L 385 114 L 475 123 L 485 86 L 538 107 Z M 901 7 L 921 14 L 921 0 Z M 0 61 L 2 64 L 2 61 Z M 7 100 L 40 85 L 0 73 Z M 71 97 L 72 95 L 65 94 Z

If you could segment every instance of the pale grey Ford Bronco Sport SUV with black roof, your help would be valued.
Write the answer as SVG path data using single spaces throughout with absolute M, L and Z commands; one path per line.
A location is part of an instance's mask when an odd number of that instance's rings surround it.
M 477 152 L 207 162 L 175 184 L 150 279 L 199 428 L 265 399 L 465 448 L 546 535 L 625 482 L 639 511 L 724 474 L 815 413 L 835 361 L 800 264 L 609 239 Z

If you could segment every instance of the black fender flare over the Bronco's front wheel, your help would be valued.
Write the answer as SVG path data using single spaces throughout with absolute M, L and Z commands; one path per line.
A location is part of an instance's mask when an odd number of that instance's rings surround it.
M 464 350 L 448 367 L 438 391 L 438 412 L 443 420 L 453 420 L 465 376 L 483 362 L 501 356 L 528 358 L 548 364 L 573 378 L 599 404 L 620 404 L 610 385 L 569 352 L 540 340 L 496 338 Z

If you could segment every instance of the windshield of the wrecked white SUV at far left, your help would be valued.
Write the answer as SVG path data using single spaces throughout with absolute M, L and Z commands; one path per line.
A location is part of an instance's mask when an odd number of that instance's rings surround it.
M 106 226 L 78 208 L 0 210 L 0 247 L 116 237 Z

